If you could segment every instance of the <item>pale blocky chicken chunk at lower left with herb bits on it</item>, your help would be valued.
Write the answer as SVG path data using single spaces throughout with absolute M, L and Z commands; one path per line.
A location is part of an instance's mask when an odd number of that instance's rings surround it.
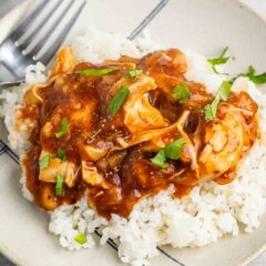
M 57 175 L 61 174 L 64 176 L 64 183 L 69 187 L 73 187 L 79 173 L 79 167 L 72 162 L 62 162 L 60 158 L 54 157 L 42 150 L 40 160 L 44 156 L 50 155 L 49 165 L 40 170 L 39 180 L 47 183 L 57 183 Z

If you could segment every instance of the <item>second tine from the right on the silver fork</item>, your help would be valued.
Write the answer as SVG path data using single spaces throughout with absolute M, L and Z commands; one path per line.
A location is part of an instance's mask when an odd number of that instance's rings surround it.
M 49 40 L 49 37 L 52 34 L 52 32 L 59 27 L 60 21 L 64 18 L 64 16 L 68 13 L 68 11 L 73 6 L 74 0 L 72 0 L 61 12 L 61 14 L 57 18 L 57 20 L 53 22 L 52 25 L 50 25 L 50 29 L 48 29 L 47 33 L 41 38 L 41 40 L 34 45 L 34 48 L 29 52 L 29 57 L 34 57 L 45 44 L 45 42 Z

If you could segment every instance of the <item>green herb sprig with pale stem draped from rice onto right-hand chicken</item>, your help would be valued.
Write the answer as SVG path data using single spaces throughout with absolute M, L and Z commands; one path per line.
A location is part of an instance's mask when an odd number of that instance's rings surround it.
M 221 100 L 227 101 L 231 93 L 232 83 L 229 81 L 224 81 L 218 89 L 216 96 L 213 102 L 204 106 L 205 121 L 209 122 L 216 117 L 218 104 Z

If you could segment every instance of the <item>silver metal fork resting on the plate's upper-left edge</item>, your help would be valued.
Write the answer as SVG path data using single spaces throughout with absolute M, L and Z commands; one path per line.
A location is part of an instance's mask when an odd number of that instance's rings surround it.
M 43 16 L 41 21 L 31 30 L 32 25 L 37 23 L 38 18 L 42 14 L 44 9 L 48 8 L 50 2 L 55 2 L 54 7 Z M 85 0 L 76 1 L 70 0 L 65 7 L 61 7 L 65 1 L 57 0 L 40 0 L 33 11 L 14 29 L 0 45 L 0 65 L 4 69 L 6 73 L 0 72 L 0 90 L 10 85 L 20 84 L 24 81 L 25 68 L 30 64 L 41 62 L 47 65 L 61 47 L 75 20 L 79 18 L 81 11 L 85 6 Z M 79 8 L 71 14 L 69 14 L 71 8 L 74 8 L 75 3 Z M 59 11 L 62 9 L 62 11 Z M 59 14 L 55 14 L 55 11 Z M 54 30 L 61 24 L 61 21 L 68 17 L 68 22 L 63 25 L 62 31 L 57 35 Z M 48 22 L 54 19 L 54 21 L 47 27 L 48 29 L 43 34 L 40 31 L 48 24 Z M 25 38 L 23 38 L 25 37 Z M 38 42 L 30 49 L 33 40 L 39 38 Z M 47 41 L 53 40 L 47 51 L 39 55 L 40 51 L 47 43 Z M 30 51 L 28 51 L 30 50 Z

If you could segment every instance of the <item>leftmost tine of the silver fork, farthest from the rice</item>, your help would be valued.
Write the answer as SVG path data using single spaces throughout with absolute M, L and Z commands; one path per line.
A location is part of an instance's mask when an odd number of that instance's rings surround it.
M 11 32 L 11 34 L 8 38 L 13 39 L 13 40 L 18 40 L 19 38 L 21 38 L 24 34 L 24 32 L 28 30 L 30 24 L 35 20 L 38 14 L 42 11 L 42 9 L 49 3 L 49 1 L 50 0 L 48 0 L 48 1 L 41 0 L 40 3 L 30 13 L 30 16 L 27 17 L 20 23 L 20 25 Z

